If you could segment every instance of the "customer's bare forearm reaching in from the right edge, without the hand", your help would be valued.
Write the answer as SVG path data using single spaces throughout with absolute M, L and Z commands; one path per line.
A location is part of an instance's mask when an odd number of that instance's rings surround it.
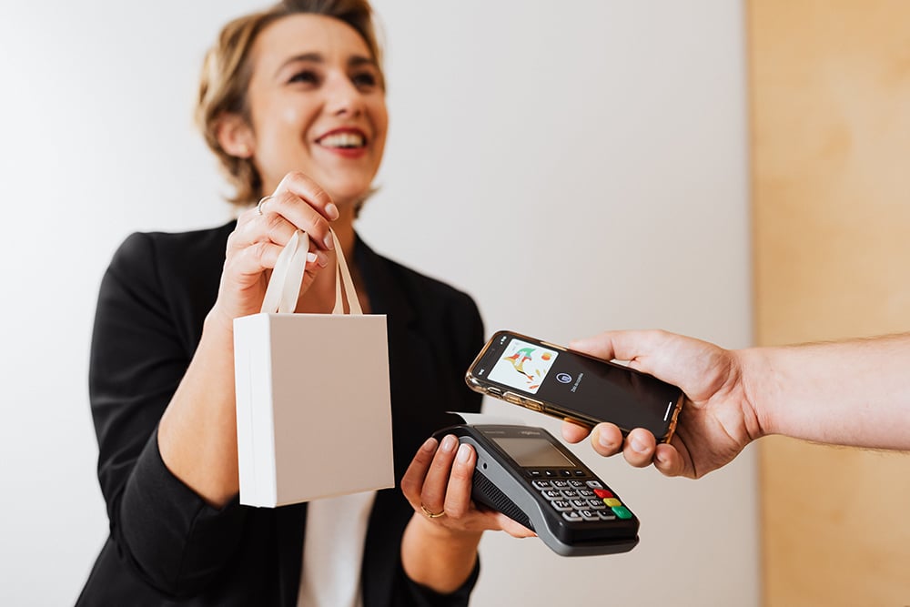
M 737 356 L 763 433 L 910 450 L 910 334 Z

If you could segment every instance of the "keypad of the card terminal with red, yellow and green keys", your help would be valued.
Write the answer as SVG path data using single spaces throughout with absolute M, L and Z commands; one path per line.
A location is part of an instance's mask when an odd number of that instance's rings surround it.
M 581 476 L 578 474 L 581 470 L 566 474 L 567 471 L 545 470 L 542 474 L 531 475 L 534 489 L 541 492 L 553 510 L 561 512 L 563 519 L 581 522 L 632 518 L 632 512 L 601 481 L 591 477 L 567 478 Z

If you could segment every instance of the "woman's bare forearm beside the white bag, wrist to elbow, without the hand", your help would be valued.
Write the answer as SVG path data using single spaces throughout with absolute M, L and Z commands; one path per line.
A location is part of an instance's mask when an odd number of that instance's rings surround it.
M 215 508 L 239 491 L 233 353 L 232 331 L 209 315 L 158 427 L 167 469 Z

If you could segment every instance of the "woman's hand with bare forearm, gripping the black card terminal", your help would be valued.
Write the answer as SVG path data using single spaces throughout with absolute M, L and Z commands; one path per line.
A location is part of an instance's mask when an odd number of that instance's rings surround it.
M 401 479 L 401 491 L 414 508 L 401 540 L 401 562 L 414 582 L 452 592 L 474 568 L 477 545 L 486 530 L 517 538 L 534 532 L 501 512 L 480 510 L 470 500 L 477 454 L 453 435 L 428 439 Z

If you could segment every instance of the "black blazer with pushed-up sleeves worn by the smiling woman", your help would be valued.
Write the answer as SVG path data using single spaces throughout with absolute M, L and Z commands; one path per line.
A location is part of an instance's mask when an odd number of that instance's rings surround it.
M 89 392 L 98 479 L 110 535 L 77 605 L 297 605 L 306 504 L 221 510 L 178 481 L 157 449 L 157 423 L 197 349 L 217 297 L 235 222 L 181 234 L 133 234 L 101 284 Z M 396 483 L 447 410 L 480 410 L 463 374 L 482 346 L 469 296 L 382 258 L 361 240 L 355 263 L 370 306 L 388 317 Z M 465 605 L 459 591 L 411 582 L 400 561 L 413 510 L 398 487 L 379 491 L 361 582 L 365 607 Z

